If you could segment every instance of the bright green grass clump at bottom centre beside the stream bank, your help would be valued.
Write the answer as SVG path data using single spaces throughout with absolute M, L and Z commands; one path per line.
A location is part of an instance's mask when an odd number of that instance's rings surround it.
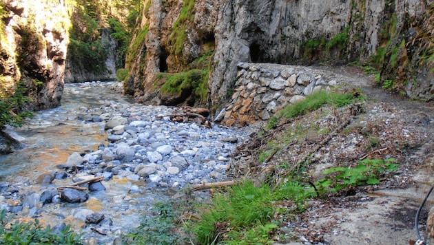
M 285 212 L 300 212 L 313 193 L 313 188 L 295 181 L 273 190 L 266 184 L 241 182 L 217 193 L 211 206 L 205 206 L 202 219 L 193 224 L 198 244 L 272 244 L 271 234 L 278 224 L 273 220 L 279 210 L 276 202 L 289 200 L 294 209 Z

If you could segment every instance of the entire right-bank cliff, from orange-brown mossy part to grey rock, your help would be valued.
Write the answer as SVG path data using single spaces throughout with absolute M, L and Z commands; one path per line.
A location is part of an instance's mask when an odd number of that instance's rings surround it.
M 185 7 L 191 2 L 193 10 Z M 433 1 L 148 0 L 147 6 L 141 28 L 148 32 L 132 47 L 138 50 L 125 81 L 125 92 L 143 101 L 158 96 L 156 73 L 186 70 L 206 47 L 215 52 L 210 107 L 230 94 L 238 62 L 370 63 L 386 89 L 434 98 Z M 187 10 L 188 25 L 180 25 Z M 186 38 L 177 52 L 173 36 L 182 28 Z

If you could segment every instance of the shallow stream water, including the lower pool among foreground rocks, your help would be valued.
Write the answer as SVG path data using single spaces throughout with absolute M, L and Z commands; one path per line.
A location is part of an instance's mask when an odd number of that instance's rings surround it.
M 76 118 L 85 114 L 83 111 L 86 108 L 110 104 L 110 101 L 133 103 L 132 98 L 115 92 L 110 85 L 114 85 L 114 82 L 92 86 L 86 83 L 66 84 L 60 107 L 39 111 L 24 127 L 14 129 L 25 148 L 0 156 L 0 182 L 18 183 L 20 193 L 39 195 L 45 189 L 68 184 L 70 178 L 63 182 L 54 180 L 52 184 L 45 185 L 34 184 L 34 180 L 42 173 L 60 171 L 56 169 L 56 164 L 66 162 L 74 151 L 93 151 L 105 142 L 104 122 L 84 122 Z M 143 181 L 116 176 L 104 182 L 104 185 L 107 191 L 92 193 L 87 202 L 80 204 L 36 204 L 43 212 L 32 217 L 36 216 L 42 224 L 51 226 L 65 222 L 74 228 L 83 228 L 84 222 L 72 216 L 77 210 L 86 209 L 110 217 L 115 227 L 112 230 L 127 231 L 140 223 L 143 211 L 147 212 L 156 198 L 164 195 L 153 193 Z M 129 193 L 131 189 L 140 191 Z M 26 213 L 30 212 L 23 209 L 18 217 L 21 220 L 29 219 Z

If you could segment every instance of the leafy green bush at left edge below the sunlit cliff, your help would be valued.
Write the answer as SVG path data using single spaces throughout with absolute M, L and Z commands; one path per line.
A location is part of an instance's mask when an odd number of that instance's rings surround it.
M 32 112 L 23 111 L 25 104 L 31 101 L 28 96 L 23 95 L 24 92 L 25 87 L 19 83 L 13 94 L 0 93 L 0 129 L 5 125 L 21 127 L 25 118 L 33 116 Z

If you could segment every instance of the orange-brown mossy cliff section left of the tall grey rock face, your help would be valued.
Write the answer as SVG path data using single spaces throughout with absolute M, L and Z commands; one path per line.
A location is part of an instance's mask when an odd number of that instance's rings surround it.
M 215 50 L 219 7 L 220 2 L 213 0 L 145 1 L 141 25 L 127 55 L 130 76 L 125 92 L 141 101 L 152 100 L 158 72 L 183 72 L 196 58 Z

